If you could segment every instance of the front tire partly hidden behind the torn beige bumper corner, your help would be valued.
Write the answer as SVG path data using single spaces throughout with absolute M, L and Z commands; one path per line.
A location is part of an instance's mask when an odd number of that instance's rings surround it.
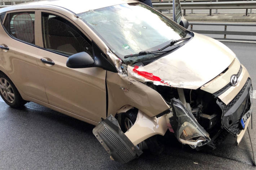
M 122 114 L 121 129 L 125 133 L 137 119 L 138 109 L 133 108 L 126 113 Z M 128 125 L 130 123 L 130 126 Z M 163 152 L 164 146 L 158 140 L 158 135 L 154 135 L 150 138 L 147 138 L 145 141 L 138 144 L 138 147 L 143 149 L 148 149 L 152 155 L 159 155 Z

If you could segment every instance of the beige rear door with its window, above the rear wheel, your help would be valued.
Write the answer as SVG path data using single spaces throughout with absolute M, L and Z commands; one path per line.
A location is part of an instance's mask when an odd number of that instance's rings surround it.
M 1 64 L 10 79 L 25 95 L 37 100 L 48 102 L 44 83 L 41 78 L 37 60 L 39 38 L 38 13 L 35 10 L 17 10 L 6 12 L 1 30 L 0 45 L 9 50 L 1 50 Z M 3 28 L 1 28 L 3 29 Z

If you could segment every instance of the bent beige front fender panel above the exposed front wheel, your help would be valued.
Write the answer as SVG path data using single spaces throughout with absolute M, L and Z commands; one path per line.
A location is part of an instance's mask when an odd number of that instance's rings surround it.
M 109 99 L 108 115 L 115 115 L 124 105 L 131 105 L 150 117 L 169 109 L 162 96 L 154 89 L 125 74 L 107 72 Z

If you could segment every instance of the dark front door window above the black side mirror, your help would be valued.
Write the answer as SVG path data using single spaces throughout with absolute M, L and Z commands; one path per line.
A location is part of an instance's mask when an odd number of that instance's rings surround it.
M 44 48 L 71 56 L 78 52 L 92 55 L 92 46 L 87 37 L 73 24 L 57 15 L 42 13 Z

